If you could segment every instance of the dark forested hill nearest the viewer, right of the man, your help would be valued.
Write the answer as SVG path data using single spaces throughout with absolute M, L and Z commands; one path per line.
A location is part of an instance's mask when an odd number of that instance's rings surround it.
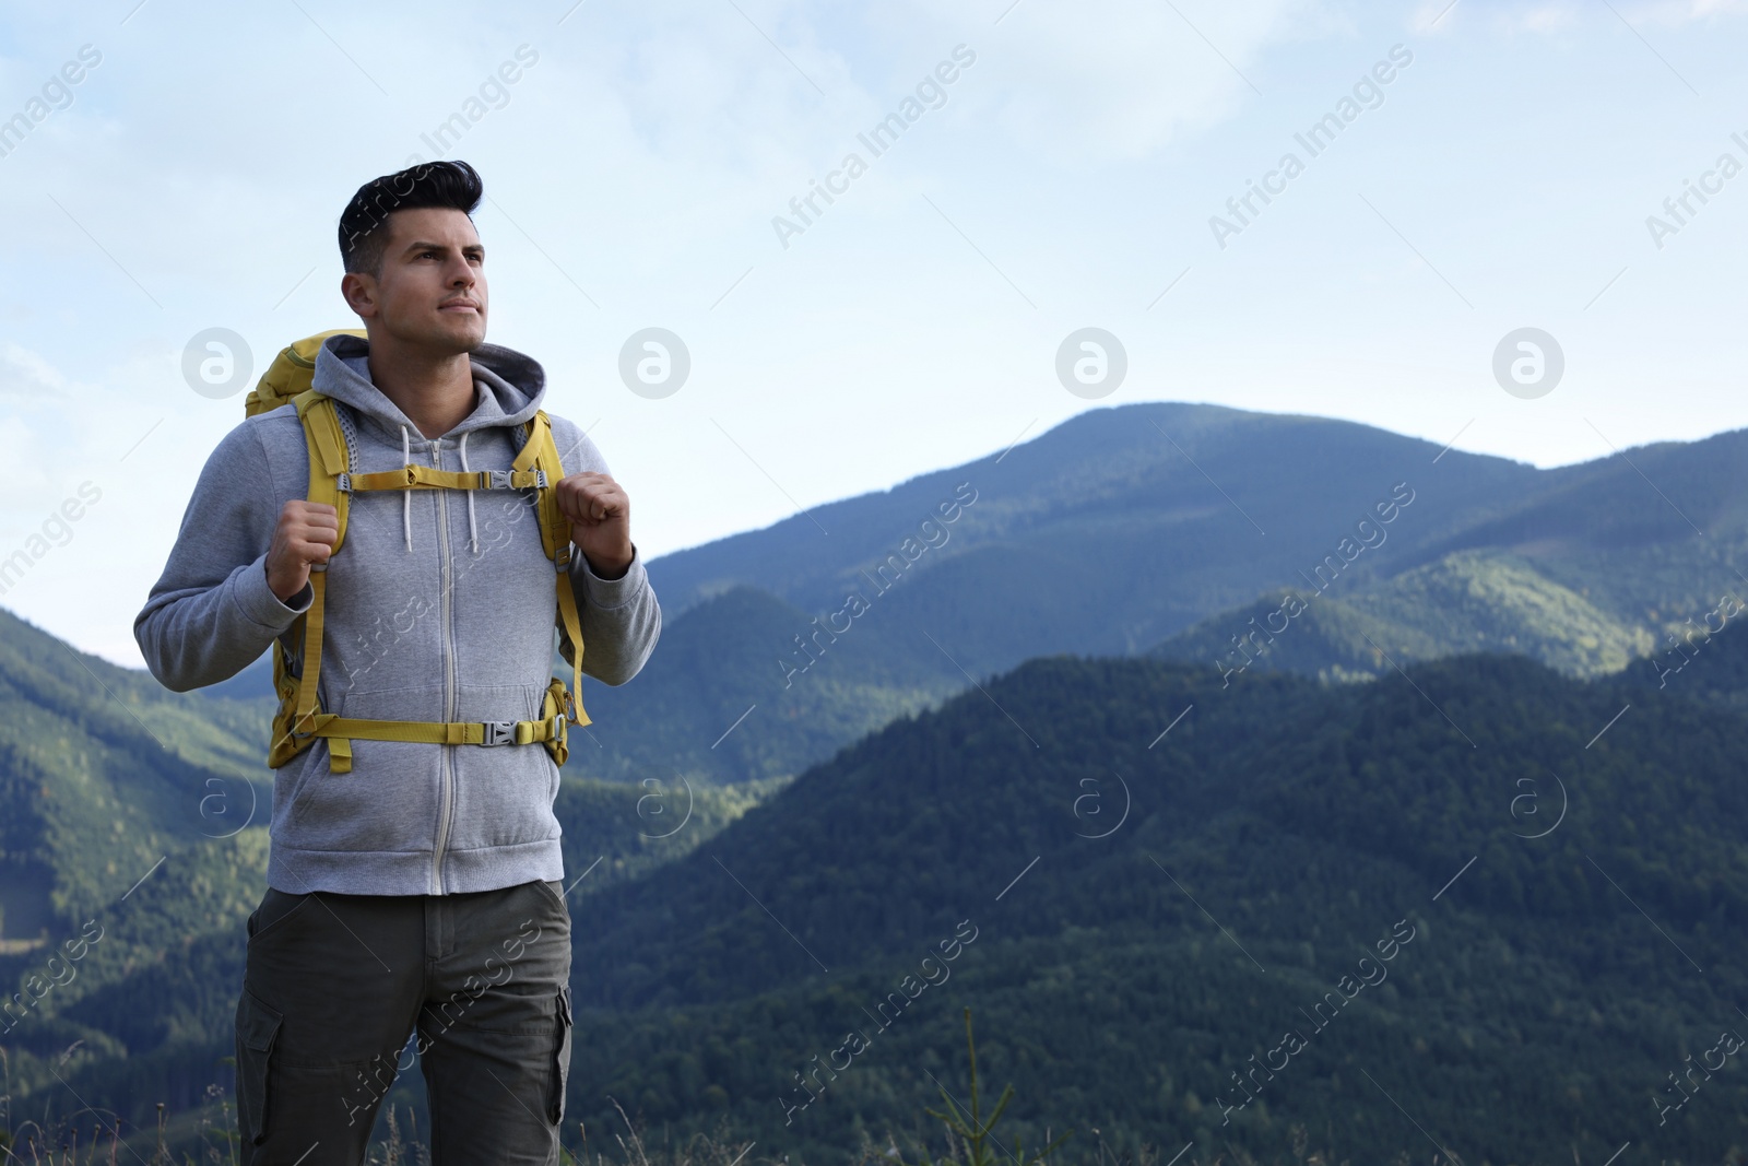
M 836 1161 L 963 1091 L 970 1005 L 1028 1145 L 1734 1161 L 1748 633 L 1692 668 L 1028 661 L 579 909 L 575 1112 Z

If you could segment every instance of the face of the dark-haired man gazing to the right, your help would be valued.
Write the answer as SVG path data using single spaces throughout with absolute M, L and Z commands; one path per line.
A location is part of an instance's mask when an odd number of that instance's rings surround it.
M 421 206 L 390 213 L 383 273 L 346 274 L 341 292 L 371 332 L 432 355 L 486 343 L 486 248 L 463 212 Z

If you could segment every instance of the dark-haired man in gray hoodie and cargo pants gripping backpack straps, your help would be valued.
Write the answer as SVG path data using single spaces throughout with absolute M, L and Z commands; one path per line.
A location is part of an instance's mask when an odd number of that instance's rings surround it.
M 467 163 L 432 163 L 365 184 L 341 217 L 341 294 L 369 339 L 329 337 L 313 386 L 339 406 L 353 474 L 510 468 L 540 407 L 542 367 L 484 343 L 481 196 Z M 551 423 L 584 670 L 626 684 L 661 635 L 631 503 L 594 444 Z M 218 444 L 135 621 L 152 675 L 182 692 L 278 636 L 295 654 L 288 629 L 323 570 L 322 710 L 538 718 L 556 594 L 535 491 L 353 493 L 336 552 L 337 512 L 304 498 L 308 475 L 294 406 Z M 274 776 L 236 1017 L 243 1161 L 362 1163 L 416 1031 L 439 1166 L 558 1163 L 570 914 L 552 755 L 538 741 L 350 748 L 350 771 L 330 769 L 316 738 Z

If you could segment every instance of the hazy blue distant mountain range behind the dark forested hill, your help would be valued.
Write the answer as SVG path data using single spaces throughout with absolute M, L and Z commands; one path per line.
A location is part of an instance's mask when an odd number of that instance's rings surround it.
M 1536 470 L 1328 418 L 1089 409 L 652 559 L 661 645 L 631 685 L 584 682 L 594 724 L 572 764 L 631 783 L 794 776 L 1030 657 L 1213 666 L 1285 589 L 1339 624 L 1327 650 L 1321 633 L 1281 647 L 1308 675 L 1388 670 L 1360 631 L 1398 663 L 1505 650 L 1615 671 L 1724 589 L 1748 594 L 1731 565 L 1745 488 L 1748 432 Z

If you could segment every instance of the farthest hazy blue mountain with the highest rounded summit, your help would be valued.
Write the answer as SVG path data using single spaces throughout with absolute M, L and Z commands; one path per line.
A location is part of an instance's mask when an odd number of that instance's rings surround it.
M 905 575 L 907 593 L 939 594 L 918 614 L 965 621 L 954 638 L 972 671 L 1058 650 L 1124 654 L 1227 596 L 1292 579 L 1395 482 L 1435 503 L 1391 531 L 1419 549 L 1460 530 L 1453 509 L 1491 516 L 1542 474 L 1458 451 L 1432 465 L 1437 453 L 1328 418 L 1178 402 L 1089 409 L 1000 455 L 666 554 L 649 570 L 675 617 L 734 584 L 836 610 L 942 500 L 974 491 L 942 524 L 942 545 Z M 1014 626 L 1021 612 L 1037 626 Z

